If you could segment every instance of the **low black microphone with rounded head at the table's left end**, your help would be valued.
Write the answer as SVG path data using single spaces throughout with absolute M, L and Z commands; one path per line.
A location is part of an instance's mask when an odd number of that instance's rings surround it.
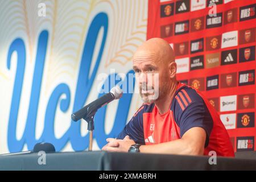
M 51 143 L 41 142 L 41 143 L 36 143 L 32 151 L 15 152 L 15 153 L 2 154 L 2 155 L 31 154 L 31 153 L 35 153 L 35 152 L 37 153 L 40 151 L 44 151 L 46 153 L 55 152 L 55 147 Z

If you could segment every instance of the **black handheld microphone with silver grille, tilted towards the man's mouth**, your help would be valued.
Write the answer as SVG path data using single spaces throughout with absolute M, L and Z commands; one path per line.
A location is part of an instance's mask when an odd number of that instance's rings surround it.
M 73 121 L 78 121 L 81 118 L 84 118 L 85 120 L 86 118 L 92 118 L 98 109 L 115 99 L 121 98 L 122 94 L 123 92 L 121 88 L 119 88 L 119 86 L 117 85 L 113 87 L 109 93 L 82 107 L 82 109 L 76 111 L 76 113 L 73 113 L 71 115 L 71 118 Z

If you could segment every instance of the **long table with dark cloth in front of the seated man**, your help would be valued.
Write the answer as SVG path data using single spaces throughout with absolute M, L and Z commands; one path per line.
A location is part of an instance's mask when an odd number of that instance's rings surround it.
M 46 154 L 46 165 L 39 165 L 38 154 L 1 156 L 0 170 L 256 170 L 255 159 L 210 156 L 130 154 L 116 152 L 57 152 Z

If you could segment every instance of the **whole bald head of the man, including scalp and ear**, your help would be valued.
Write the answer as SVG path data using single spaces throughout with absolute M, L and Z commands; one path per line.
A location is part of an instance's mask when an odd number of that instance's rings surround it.
M 133 56 L 133 69 L 143 102 L 164 98 L 176 82 L 176 63 L 170 44 L 160 38 L 147 40 Z

